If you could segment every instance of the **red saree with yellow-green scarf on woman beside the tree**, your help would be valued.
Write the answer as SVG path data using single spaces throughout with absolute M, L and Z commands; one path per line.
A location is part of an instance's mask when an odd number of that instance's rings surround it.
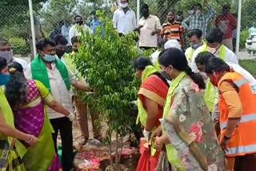
M 146 126 L 146 107 L 145 98 L 155 101 L 158 104 L 158 115 L 154 123 L 154 128 L 150 131 L 153 133 L 154 129 L 160 125 L 159 119 L 162 118 L 162 111 L 164 101 L 166 100 L 166 94 L 168 86 L 161 78 L 158 78 L 154 73 L 157 70 L 154 66 L 146 66 L 146 69 L 142 72 L 142 85 L 138 90 L 138 121 L 145 127 Z M 143 142 L 141 140 L 140 151 L 142 153 L 138 162 L 137 170 L 154 170 L 158 165 L 158 156 L 160 152 L 157 152 L 153 147 L 153 138 L 149 137 L 149 140 Z

